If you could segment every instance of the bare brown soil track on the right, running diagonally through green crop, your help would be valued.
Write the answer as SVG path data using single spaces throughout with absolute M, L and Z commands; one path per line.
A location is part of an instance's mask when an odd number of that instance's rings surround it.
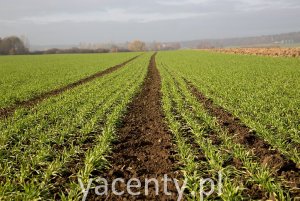
M 234 136 L 236 143 L 243 144 L 250 149 L 262 165 L 267 165 L 276 177 L 283 178 L 285 185 L 291 188 L 292 196 L 300 196 L 300 169 L 293 161 L 287 159 L 278 150 L 273 149 L 240 119 L 234 117 L 221 106 L 215 105 L 211 99 L 199 92 L 190 82 L 186 81 L 186 83 L 192 94 L 197 97 L 209 114 L 216 117 L 219 125 Z

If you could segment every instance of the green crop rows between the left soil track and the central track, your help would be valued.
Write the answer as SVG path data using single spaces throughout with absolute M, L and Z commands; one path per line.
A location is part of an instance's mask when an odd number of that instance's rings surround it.
M 1 120 L 0 198 L 79 199 L 77 178 L 86 181 L 106 166 L 115 127 L 139 90 L 149 59 L 145 54 Z

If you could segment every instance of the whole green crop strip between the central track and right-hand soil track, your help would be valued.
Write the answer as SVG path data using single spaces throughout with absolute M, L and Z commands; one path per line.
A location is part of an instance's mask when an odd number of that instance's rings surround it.
M 253 152 L 236 143 L 228 131 L 219 126 L 190 92 L 180 72 L 183 67 L 166 65 L 169 60 L 164 54 L 159 53 L 157 59 L 163 78 L 163 108 L 188 179 L 187 198 L 199 196 L 195 192 L 199 192 L 200 178 L 217 181 L 218 172 L 222 172 L 222 193 L 214 194 L 214 199 L 289 200 L 291 189 L 285 185 L 286 181 L 274 175 L 257 161 Z

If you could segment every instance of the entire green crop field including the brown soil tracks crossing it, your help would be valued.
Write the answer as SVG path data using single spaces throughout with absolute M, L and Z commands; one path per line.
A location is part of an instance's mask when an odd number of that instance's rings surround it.
M 204 200 L 297 200 L 299 58 L 140 54 L 0 57 L 0 109 L 16 106 L 0 116 L 0 200 L 95 200 L 99 183 L 86 195 L 78 179 L 87 186 L 96 177 L 164 174 L 186 180 L 184 200 L 202 200 L 210 187 Z M 222 185 L 203 187 L 202 178 Z M 150 192 L 151 199 L 166 196 L 153 186 Z

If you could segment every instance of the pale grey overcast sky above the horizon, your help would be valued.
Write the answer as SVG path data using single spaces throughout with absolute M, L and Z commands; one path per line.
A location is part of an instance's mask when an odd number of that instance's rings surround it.
M 0 37 L 35 45 L 284 33 L 299 19 L 300 0 L 0 0 Z

